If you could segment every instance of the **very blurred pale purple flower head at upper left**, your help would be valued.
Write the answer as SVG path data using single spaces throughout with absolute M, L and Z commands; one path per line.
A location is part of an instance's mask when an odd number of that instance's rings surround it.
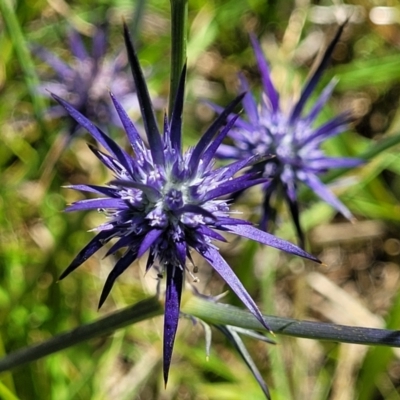
M 73 56 L 71 65 L 47 49 L 34 45 L 34 54 L 48 64 L 55 72 L 54 79 L 43 82 L 40 92 L 48 95 L 49 91 L 68 99 L 73 106 L 87 118 L 100 126 L 121 126 L 115 108 L 110 100 L 112 91 L 124 107 L 137 108 L 135 86 L 125 71 L 127 59 L 124 53 L 107 57 L 107 30 L 96 28 L 90 52 L 85 47 L 82 36 L 71 30 L 68 36 L 69 48 Z M 63 107 L 55 106 L 49 110 L 50 118 L 67 115 Z M 78 125 L 72 120 L 70 133 Z

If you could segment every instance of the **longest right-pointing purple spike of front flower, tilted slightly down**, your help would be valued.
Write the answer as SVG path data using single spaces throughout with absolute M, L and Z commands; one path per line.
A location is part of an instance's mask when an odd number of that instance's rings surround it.
M 309 260 L 321 263 L 316 257 L 300 249 L 296 245 L 279 239 L 270 233 L 261 231 L 252 225 L 229 225 L 225 226 L 228 232 L 235 233 L 236 235 L 243 236 L 245 238 L 255 240 L 256 242 L 266 244 L 267 246 L 275 247 L 276 249 L 286 251 L 287 253 L 294 254 L 296 256 L 308 258 Z

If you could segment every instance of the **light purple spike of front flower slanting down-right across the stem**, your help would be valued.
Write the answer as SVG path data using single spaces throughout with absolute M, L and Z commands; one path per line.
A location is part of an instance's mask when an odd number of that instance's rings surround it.
M 242 303 L 248 308 L 248 310 L 261 322 L 261 324 L 271 331 L 268 324 L 264 321 L 263 315 L 258 309 L 256 303 L 251 298 L 251 296 L 247 293 L 247 290 L 244 288 L 238 277 L 232 271 L 231 267 L 227 264 L 227 262 L 222 258 L 221 254 L 219 254 L 218 250 L 207 247 L 206 250 L 202 250 L 199 252 L 210 264 L 211 266 L 218 272 L 221 278 L 231 287 L 231 289 L 235 292 L 236 296 L 242 301 Z

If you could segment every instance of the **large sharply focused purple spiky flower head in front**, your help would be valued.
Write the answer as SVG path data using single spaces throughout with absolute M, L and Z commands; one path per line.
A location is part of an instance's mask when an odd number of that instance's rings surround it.
M 67 210 L 104 210 L 107 222 L 97 228 L 97 235 L 81 250 L 60 279 L 79 267 L 92 254 L 112 239 L 116 242 L 107 255 L 124 248 L 123 256 L 110 272 L 99 306 L 103 304 L 116 278 L 137 258 L 148 251 L 146 270 L 155 263 L 166 275 L 164 318 L 164 379 L 168 378 L 172 348 L 178 325 L 180 300 L 186 261 L 191 261 L 190 249 L 201 254 L 222 276 L 253 315 L 268 328 L 255 302 L 234 272 L 218 252 L 213 240 L 225 241 L 217 232 L 231 232 L 254 239 L 292 254 L 316 260 L 297 246 L 260 231 L 250 223 L 231 218 L 225 200 L 229 193 L 245 189 L 264 179 L 247 173 L 234 177 L 236 172 L 257 160 L 245 160 L 213 169 L 213 156 L 227 132 L 234 124 L 224 123 L 243 96 L 235 99 L 209 127 L 197 145 L 182 152 L 182 109 L 184 102 L 185 69 L 170 120 L 165 118 L 163 135 L 155 120 L 147 86 L 132 46 L 127 28 L 124 30 L 128 58 L 131 64 L 149 149 L 139 136 L 121 104 L 111 94 L 134 156 L 119 147 L 99 128 L 79 113 L 72 105 L 56 95 L 54 98 L 72 118 L 108 152 L 91 147 L 92 152 L 109 168 L 115 178 L 107 186 L 74 185 L 72 188 L 100 194 L 104 197 L 81 200 Z

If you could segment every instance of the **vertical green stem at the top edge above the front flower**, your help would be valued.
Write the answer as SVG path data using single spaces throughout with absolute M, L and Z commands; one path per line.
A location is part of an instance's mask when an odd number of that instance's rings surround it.
M 187 0 L 171 1 L 171 83 L 169 90 L 168 117 L 171 120 L 172 110 L 179 85 L 179 78 L 186 62 L 187 44 Z

